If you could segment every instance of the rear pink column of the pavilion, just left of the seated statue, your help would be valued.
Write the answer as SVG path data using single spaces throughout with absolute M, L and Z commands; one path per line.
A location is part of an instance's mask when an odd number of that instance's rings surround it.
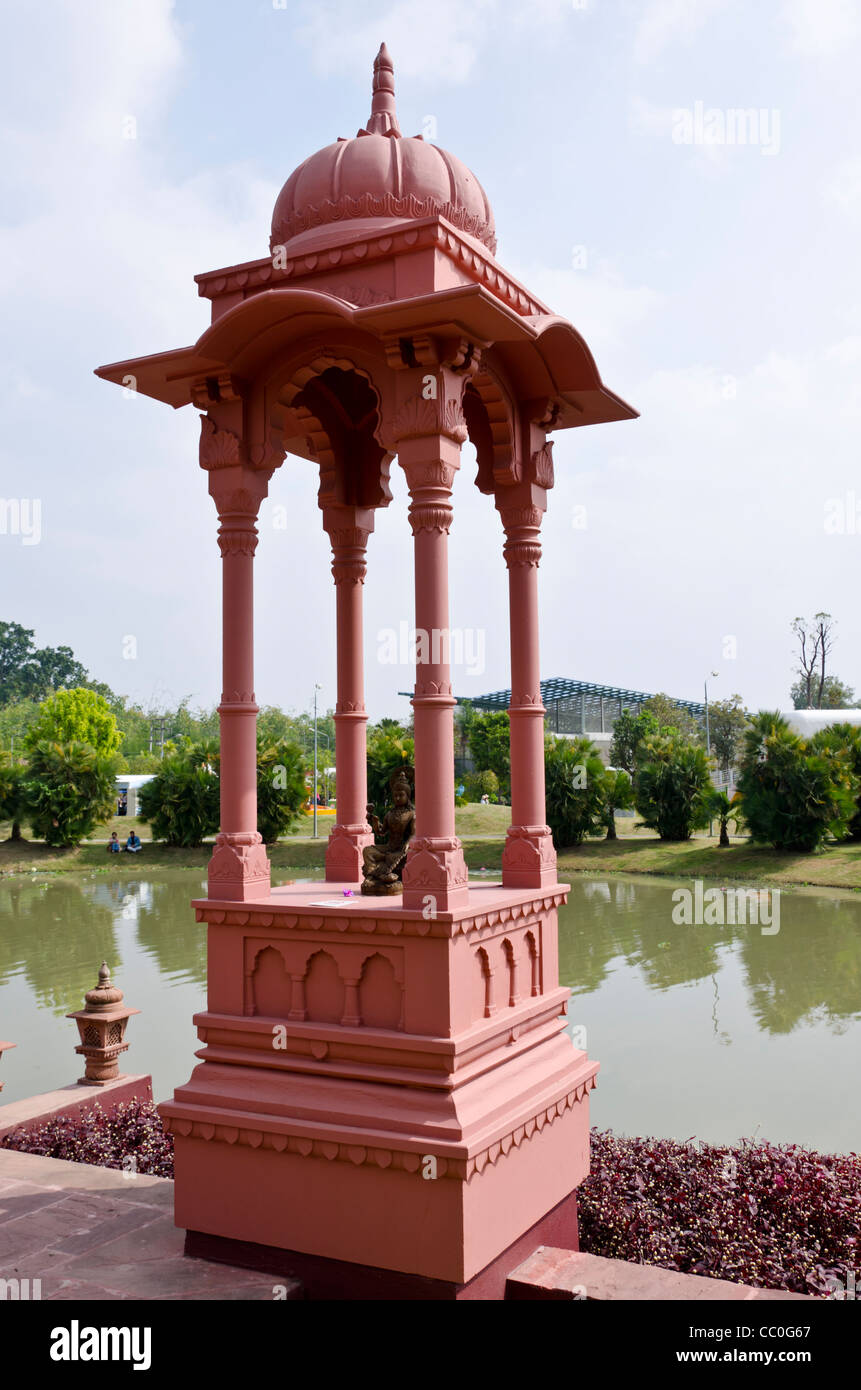
M 332 545 L 338 630 L 337 820 L 325 847 L 325 877 L 332 883 L 360 883 L 362 849 L 374 842 L 366 815 L 367 712 L 362 613 L 364 555 L 374 528 L 374 513 L 366 507 L 325 507 L 323 525 Z

